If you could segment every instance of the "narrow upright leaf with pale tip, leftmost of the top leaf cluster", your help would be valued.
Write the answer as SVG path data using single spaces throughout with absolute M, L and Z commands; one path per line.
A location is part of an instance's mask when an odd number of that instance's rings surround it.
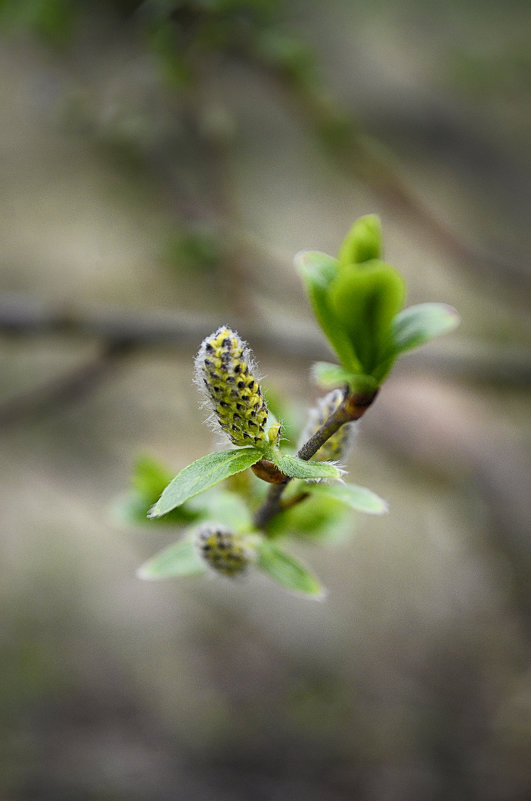
M 301 275 L 317 322 L 345 367 L 360 372 L 361 365 L 343 326 L 338 324 L 330 305 L 329 288 L 337 277 L 339 262 L 326 253 L 305 251 L 295 256 L 295 266 Z

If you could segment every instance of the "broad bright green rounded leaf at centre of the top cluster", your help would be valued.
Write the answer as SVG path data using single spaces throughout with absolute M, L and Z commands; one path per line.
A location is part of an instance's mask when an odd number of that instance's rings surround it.
M 342 268 L 329 299 L 362 366 L 354 372 L 372 375 L 387 355 L 391 323 L 404 297 L 404 279 L 389 264 L 376 260 Z

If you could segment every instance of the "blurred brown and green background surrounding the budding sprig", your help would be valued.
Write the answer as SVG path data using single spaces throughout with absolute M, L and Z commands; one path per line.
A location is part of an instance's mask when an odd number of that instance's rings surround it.
M 531 7 L 0 1 L 0 798 L 531 797 Z M 293 270 L 378 213 L 404 358 L 352 481 L 389 501 L 265 577 L 144 583 L 133 465 L 211 449 L 228 323 L 299 414 Z

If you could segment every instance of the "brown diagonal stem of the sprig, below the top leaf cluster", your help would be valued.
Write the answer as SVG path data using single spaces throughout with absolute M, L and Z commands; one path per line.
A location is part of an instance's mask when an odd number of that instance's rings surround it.
M 330 415 L 321 428 L 299 448 L 297 451 L 299 459 L 304 459 L 307 462 L 341 426 L 345 425 L 345 423 L 359 420 L 374 401 L 377 393 L 378 390 L 374 390 L 350 395 L 348 390 L 345 390 L 345 396 L 340 406 Z M 269 521 L 281 510 L 282 493 L 290 481 L 291 478 L 286 476 L 283 482 L 271 486 L 262 506 L 257 509 L 254 515 L 254 524 L 257 528 L 267 526 Z

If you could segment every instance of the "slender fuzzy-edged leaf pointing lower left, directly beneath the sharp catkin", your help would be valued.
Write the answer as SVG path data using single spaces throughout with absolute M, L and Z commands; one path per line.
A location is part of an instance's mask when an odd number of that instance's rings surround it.
M 161 517 L 176 506 L 199 495 L 200 492 L 219 484 L 229 476 L 246 470 L 263 456 L 257 448 L 236 448 L 216 451 L 202 456 L 178 473 L 171 481 L 149 513 L 150 517 Z

